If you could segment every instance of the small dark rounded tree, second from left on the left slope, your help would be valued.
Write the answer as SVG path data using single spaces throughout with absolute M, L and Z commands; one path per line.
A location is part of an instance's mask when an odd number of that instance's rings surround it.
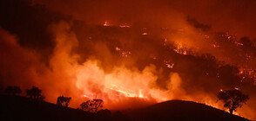
M 30 90 L 27 90 L 27 96 L 30 97 L 30 99 L 37 99 L 37 100 L 44 100 L 45 97 L 41 94 L 42 90 L 40 90 L 36 86 L 32 86 Z

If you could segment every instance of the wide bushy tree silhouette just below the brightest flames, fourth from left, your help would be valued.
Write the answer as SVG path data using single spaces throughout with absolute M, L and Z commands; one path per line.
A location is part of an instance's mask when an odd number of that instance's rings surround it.
M 87 100 L 80 105 L 81 109 L 84 111 L 97 112 L 103 108 L 103 100 L 102 99 L 93 99 Z

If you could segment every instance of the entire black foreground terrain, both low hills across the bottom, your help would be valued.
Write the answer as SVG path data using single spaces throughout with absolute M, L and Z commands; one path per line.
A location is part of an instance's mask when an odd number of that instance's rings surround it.
M 145 108 L 127 111 L 125 114 L 90 113 L 60 107 L 47 102 L 37 102 L 20 96 L 0 95 L 0 120 L 61 120 L 61 121 L 243 121 L 246 118 L 233 116 L 226 111 L 190 101 L 172 100 Z

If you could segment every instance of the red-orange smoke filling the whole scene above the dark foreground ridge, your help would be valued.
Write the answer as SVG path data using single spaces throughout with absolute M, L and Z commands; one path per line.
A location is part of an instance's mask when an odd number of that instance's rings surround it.
M 38 86 L 51 103 L 71 96 L 72 107 L 103 99 L 109 109 L 169 99 L 222 109 L 217 93 L 236 87 L 250 96 L 238 113 L 255 118 L 255 18 L 241 14 L 255 10 L 255 2 L 39 3 L 5 7 L 13 16 L 29 15 L 21 22 L 1 13 L 3 87 Z

